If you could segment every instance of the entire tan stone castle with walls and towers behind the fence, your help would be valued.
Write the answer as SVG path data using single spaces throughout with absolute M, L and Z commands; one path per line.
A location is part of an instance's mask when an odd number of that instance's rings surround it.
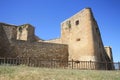
M 113 62 L 111 47 L 104 47 L 90 8 L 63 21 L 61 37 L 53 40 L 38 38 L 30 24 L 0 23 L 0 57 Z

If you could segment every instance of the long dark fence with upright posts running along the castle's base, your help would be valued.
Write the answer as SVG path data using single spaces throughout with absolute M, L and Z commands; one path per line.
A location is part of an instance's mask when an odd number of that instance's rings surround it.
M 31 67 L 46 68 L 69 68 L 80 70 L 120 70 L 119 62 L 95 62 L 95 61 L 62 61 L 62 60 L 41 60 L 34 57 L 0 58 L 0 65 L 27 65 Z

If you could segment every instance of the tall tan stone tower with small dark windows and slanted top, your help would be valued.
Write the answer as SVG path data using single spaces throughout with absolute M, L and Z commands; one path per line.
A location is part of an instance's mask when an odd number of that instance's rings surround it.
M 61 40 L 69 46 L 70 60 L 106 60 L 99 28 L 90 8 L 83 9 L 61 23 Z

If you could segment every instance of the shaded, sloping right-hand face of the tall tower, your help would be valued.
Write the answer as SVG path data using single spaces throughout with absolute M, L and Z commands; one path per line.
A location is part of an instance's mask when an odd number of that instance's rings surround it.
M 91 24 L 93 30 L 93 42 L 94 42 L 93 45 L 94 45 L 94 53 L 95 53 L 94 55 L 97 57 L 98 61 L 110 61 L 104 49 L 98 24 L 94 19 L 93 15 L 91 16 Z

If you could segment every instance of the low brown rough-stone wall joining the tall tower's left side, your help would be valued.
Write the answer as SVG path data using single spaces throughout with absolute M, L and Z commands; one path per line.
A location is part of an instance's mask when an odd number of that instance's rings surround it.
M 17 57 L 39 57 L 43 60 L 68 61 L 67 45 L 26 41 L 15 41 L 13 45 Z

